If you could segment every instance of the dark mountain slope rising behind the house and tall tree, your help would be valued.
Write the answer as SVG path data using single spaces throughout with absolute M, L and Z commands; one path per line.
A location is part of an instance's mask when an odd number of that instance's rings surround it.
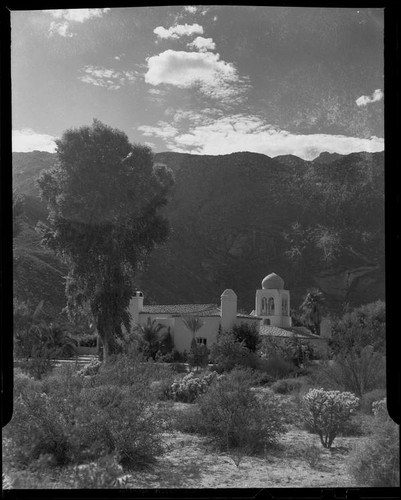
M 14 188 L 26 196 L 14 275 L 18 296 L 45 298 L 58 310 L 66 269 L 33 230 L 46 217 L 35 178 L 54 159 L 13 155 Z M 250 311 L 272 271 L 285 280 L 292 307 L 311 286 L 323 290 L 332 310 L 384 298 L 383 153 L 323 153 L 308 162 L 170 152 L 155 162 L 173 170 L 176 185 L 166 208 L 171 236 L 138 277 L 148 303 L 219 302 L 232 288 Z

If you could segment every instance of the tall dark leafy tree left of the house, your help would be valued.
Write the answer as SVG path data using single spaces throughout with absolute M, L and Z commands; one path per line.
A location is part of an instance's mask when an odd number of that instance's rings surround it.
M 133 276 L 167 238 L 159 212 L 173 177 L 153 165 L 147 146 L 130 144 L 125 133 L 98 120 L 67 130 L 56 144 L 58 162 L 38 181 L 49 209 L 39 230 L 69 266 L 68 312 L 93 317 L 107 359 L 122 325 L 130 328 Z

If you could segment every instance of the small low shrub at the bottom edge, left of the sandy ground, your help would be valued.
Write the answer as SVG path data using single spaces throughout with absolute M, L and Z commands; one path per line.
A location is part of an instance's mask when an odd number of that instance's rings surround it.
M 78 465 L 74 472 L 76 487 L 82 489 L 124 488 L 129 479 L 129 476 L 123 474 L 122 466 L 113 455 Z

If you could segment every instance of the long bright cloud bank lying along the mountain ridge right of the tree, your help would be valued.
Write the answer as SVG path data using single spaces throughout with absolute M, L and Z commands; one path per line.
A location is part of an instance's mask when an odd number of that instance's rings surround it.
M 187 115 L 188 117 L 188 115 Z M 343 135 L 297 135 L 275 128 L 256 116 L 243 114 L 215 119 L 210 117 L 200 123 L 179 127 L 175 119 L 172 126 L 159 122 L 156 127 L 139 127 L 147 137 L 165 140 L 167 149 L 193 154 L 219 155 L 237 151 L 262 153 L 270 157 L 293 154 L 306 160 L 316 158 L 321 152 L 349 154 L 357 151 L 382 151 L 384 140 L 378 137 L 360 139 Z

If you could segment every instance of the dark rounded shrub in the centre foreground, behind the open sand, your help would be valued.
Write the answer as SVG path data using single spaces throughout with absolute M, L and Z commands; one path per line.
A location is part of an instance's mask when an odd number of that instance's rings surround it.
M 276 442 L 284 425 L 273 398 L 260 399 L 249 376 L 239 369 L 221 377 L 198 400 L 199 431 L 212 436 L 223 450 L 252 454 Z

